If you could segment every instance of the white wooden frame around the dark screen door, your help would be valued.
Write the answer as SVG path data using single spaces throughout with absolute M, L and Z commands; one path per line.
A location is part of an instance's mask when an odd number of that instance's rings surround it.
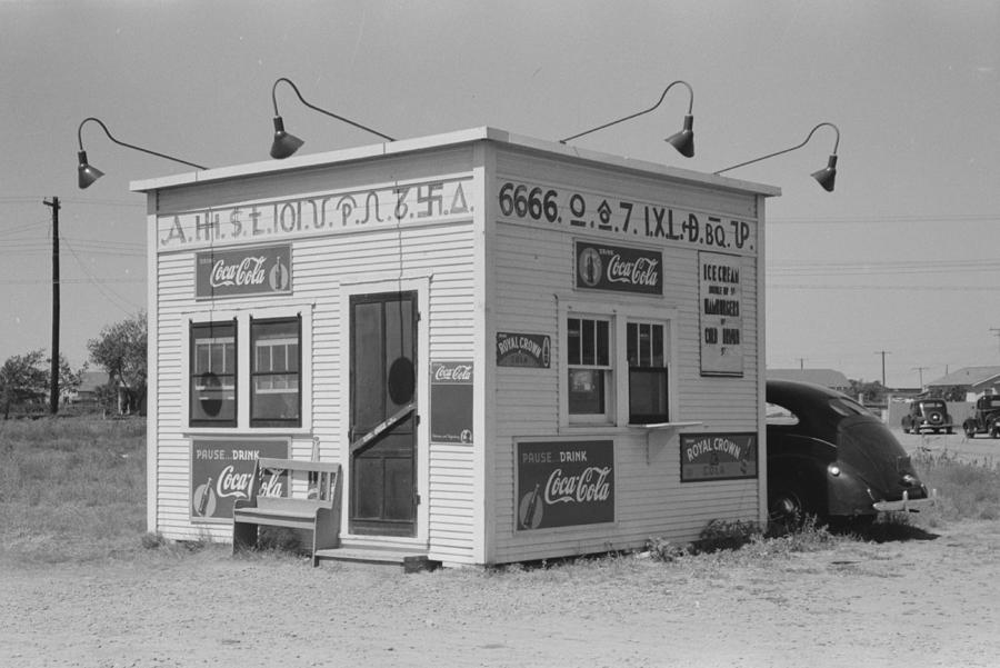
M 342 282 L 340 290 L 340 331 L 341 345 L 339 347 L 340 360 L 340 427 L 338 430 L 338 440 L 342 443 L 341 462 L 343 466 L 343 497 L 344 502 L 341 504 L 341 527 L 346 536 L 350 529 L 350 502 L 352 490 L 350 488 L 352 471 L 352 457 L 350 443 L 348 442 L 348 429 L 351 423 L 351 297 L 361 295 L 377 295 L 391 292 L 416 292 L 417 293 L 417 415 L 420 417 L 417 425 L 417 456 L 414 470 L 414 486 L 419 495 L 420 502 L 417 505 L 414 517 L 414 535 L 412 537 L 387 536 L 386 540 L 392 542 L 412 542 L 414 545 L 426 546 L 428 541 L 428 518 L 429 512 L 429 489 L 430 489 L 430 371 L 428 359 L 430 357 L 430 342 L 428 340 L 428 317 L 430 308 L 430 275 L 426 276 L 404 276 L 401 280 L 397 278 L 384 278 L 373 280 L 359 280 L 352 282 Z M 358 538 L 364 540 L 378 540 L 380 536 L 371 536 L 368 534 L 358 535 Z

